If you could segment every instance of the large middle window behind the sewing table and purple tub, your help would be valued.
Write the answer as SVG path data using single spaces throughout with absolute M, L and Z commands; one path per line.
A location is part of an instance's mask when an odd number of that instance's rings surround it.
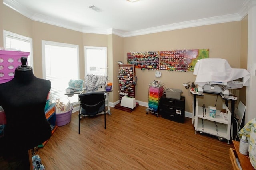
M 42 41 L 43 78 L 51 81 L 51 93 L 61 102 L 78 104 L 78 96 L 67 97 L 70 79 L 79 79 L 78 45 Z

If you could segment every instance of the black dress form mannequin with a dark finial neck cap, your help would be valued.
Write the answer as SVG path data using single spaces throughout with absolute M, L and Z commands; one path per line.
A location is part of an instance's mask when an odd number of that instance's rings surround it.
M 14 78 L 0 84 L 0 106 L 6 114 L 4 153 L 6 158 L 27 153 L 51 136 L 50 123 L 44 107 L 51 82 L 37 78 L 32 67 L 22 65 L 15 70 Z

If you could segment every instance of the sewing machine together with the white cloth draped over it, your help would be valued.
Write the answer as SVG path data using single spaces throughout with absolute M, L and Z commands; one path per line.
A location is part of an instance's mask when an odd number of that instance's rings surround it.
M 248 86 L 250 73 L 245 69 L 231 68 L 226 59 L 208 58 L 197 61 L 194 68 L 195 84 L 198 85 L 198 94 L 203 92 L 229 96 L 228 89 Z

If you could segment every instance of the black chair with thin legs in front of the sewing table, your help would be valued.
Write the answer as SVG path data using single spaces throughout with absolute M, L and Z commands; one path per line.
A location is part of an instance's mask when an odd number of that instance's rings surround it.
M 104 112 L 105 119 L 105 129 L 106 129 L 106 108 L 105 108 L 105 98 L 106 95 L 104 92 L 89 92 L 85 94 L 78 95 L 80 99 L 80 108 L 79 108 L 79 127 L 78 133 L 80 134 L 80 119 L 81 115 L 84 116 L 95 116 L 102 111 Z

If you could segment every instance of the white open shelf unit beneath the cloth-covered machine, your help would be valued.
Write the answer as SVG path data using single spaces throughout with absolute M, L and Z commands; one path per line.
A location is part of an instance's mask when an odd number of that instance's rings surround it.
M 220 138 L 231 140 L 231 111 L 226 104 L 222 104 L 222 109 L 226 113 L 221 115 L 220 110 L 216 110 L 216 117 L 210 117 L 210 109 L 205 106 L 198 106 L 198 99 L 196 99 L 196 110 L 194 116 L 195 133 L 208 133 Z

